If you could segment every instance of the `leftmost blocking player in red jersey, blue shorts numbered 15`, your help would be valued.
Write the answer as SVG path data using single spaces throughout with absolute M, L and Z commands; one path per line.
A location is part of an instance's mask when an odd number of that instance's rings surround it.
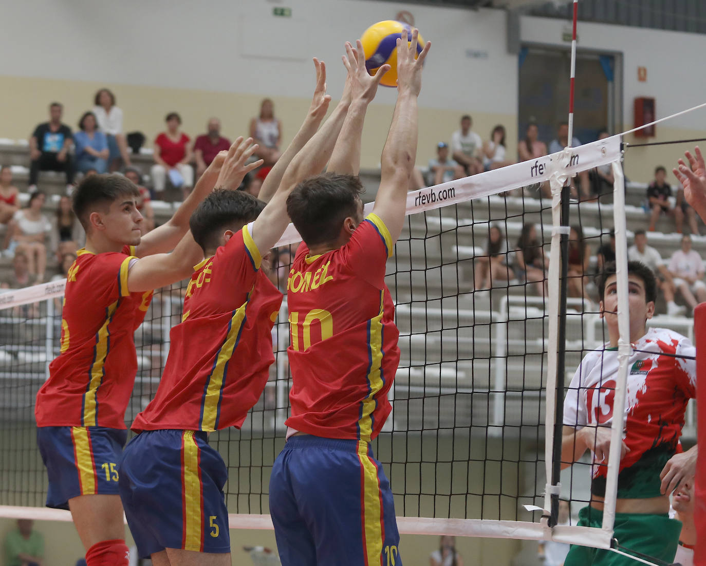
M 245 165 L 255 146 L 242 138 L 237 144 L 242 178 L 257 166 Z M 203 258 L 188 234 L 189 217 L 213 190 L 224 159 L 169 222 L 143 237 L 139 191 L 125 177 L 90 176 L 74 192 L 86 246 L 68 271 L 61 350 L 37 394 L 35 416 L 49 475 L 47 506 L 71 510 L 88 566 L 127 564 L 116 466 L 137 368 L 133 332 L 152 289 L 188 277 Z

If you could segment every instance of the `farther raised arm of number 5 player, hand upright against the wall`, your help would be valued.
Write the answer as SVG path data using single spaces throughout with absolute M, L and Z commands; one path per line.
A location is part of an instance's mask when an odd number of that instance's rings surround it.
M 269 203 L 272 200 L 292 159 L 316 133 L 323 116 L 326 114 L 328 102 L 330 101 L 330 97 L 326 95 L 326 66 L 323 61 L 319 61 L 316 57 L 313 59 L 313 64 L 316 67 L 316 88 L 313 92 L 313 100 L 311 100 L 309 112 L 306 113 L 304 123 L 301 124 L 301 128 L 299 128 L 297 135 L 294 136 L 292 143 L 282 153 L 280 159 L 277 159 L 277 163 L 275 163 L 275 166 L 265 177 L 265 181 L 263 181 L 258 198 L 264 200 L 265 203 Z M 325 107 L 323 107 L 323 102 L 325 102 Z

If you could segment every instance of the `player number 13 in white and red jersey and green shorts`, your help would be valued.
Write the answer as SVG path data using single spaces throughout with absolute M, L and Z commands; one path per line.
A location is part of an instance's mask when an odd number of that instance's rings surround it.
M 587 354 L 571 380 L 561 459 L 568 467 L 586 450 L 592 452 L 592 498 L 580 510 L 578 525 L 600 527 L 618 374 L 615 263 L 606 265 L 598 289 L 609 343 Z M 681 452 L 679 437 L 686 404 L 695 397 L 696 363 L 688 338 L 664 328 L 647 330 L 656 294 L 654 272 L 628 262 L 631 348 L 614 536 L 625 548 L 671 562 L 681 524 L 669 519 L 669 494 L 695 474 L 696 447 Z M 608 550 L 572 546 L 564 566 L 633 564 L 622 558 Z

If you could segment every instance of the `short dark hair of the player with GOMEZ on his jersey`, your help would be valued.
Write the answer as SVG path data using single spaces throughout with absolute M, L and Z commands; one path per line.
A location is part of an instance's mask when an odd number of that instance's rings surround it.
M 342 222 L 357 213 L 364 188 L 357 176 L 323 173 L 294 188 L 287 214 L 307 246 L 335 241 Z

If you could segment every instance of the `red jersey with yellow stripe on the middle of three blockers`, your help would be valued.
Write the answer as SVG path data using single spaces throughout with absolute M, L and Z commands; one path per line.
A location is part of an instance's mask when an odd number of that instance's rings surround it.
M 133 430 L 239 428 L 262 395 L 282 293 L 260 269 L 251 226 L 196 266 L 157 394 Z

